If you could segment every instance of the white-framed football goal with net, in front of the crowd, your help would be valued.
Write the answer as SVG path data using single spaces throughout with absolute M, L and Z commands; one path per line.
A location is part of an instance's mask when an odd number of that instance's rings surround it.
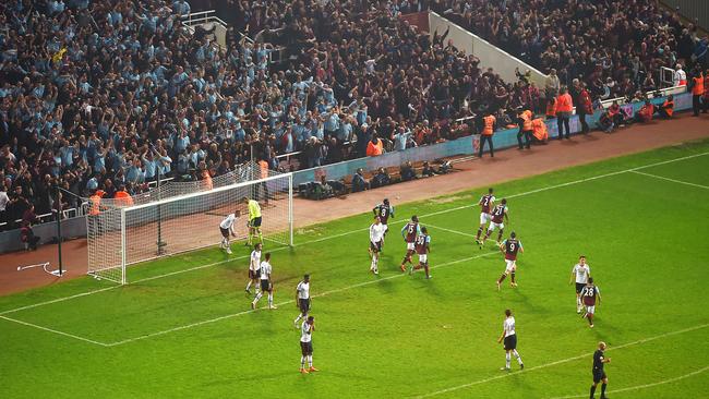
M 219 222 L 236 209 L 241 210 L 235 225 L 237 240 L 245 239 L 244 197 L 261 205 L 264 241 L 292 245 L 292 174 L 278 173 L 169 197 L 143 195 L 131 206 L 103 201 L 98 215 L 86 216 L 88 274 L 125 285 L 129 265 L 216 245 L 221 239 Z

